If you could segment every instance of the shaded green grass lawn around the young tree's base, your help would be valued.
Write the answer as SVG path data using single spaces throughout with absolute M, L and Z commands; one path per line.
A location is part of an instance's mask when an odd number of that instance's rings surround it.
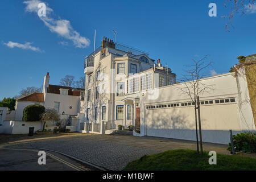
M 203 155 L 193 150 L 171 150 L 159 154 L 145 155 L 127 164 L 128 171 L 171 171 L 171 170 L 256 170 L 256 159 L 237 155 L 217 154 L 217 164 L 208 163 L 208 152 Z

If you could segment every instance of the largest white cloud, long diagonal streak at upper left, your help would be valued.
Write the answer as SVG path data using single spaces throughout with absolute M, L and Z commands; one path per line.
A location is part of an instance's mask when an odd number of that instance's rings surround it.
M 39 10 L 38 4 L 42 3 L 42 1 L 29 0 L 24 1 L 23 3 L 27 5 L 25 9 L 26 11 L 36 13 L 37 15 Z M 79 32 L 74 30 L 69 20 L 51 18 L 51 13 L 53 13 L 53 10 L 47 6 L 46 17 L 39 17 L 51 32 L 55 32 L 57 35 L 71 40 L 78 48 L 85 48 L 90 45 L 90 40 L 81 36 Z

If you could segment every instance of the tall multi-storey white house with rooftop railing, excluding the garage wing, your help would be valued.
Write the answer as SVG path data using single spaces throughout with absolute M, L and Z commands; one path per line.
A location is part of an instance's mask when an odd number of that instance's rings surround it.
M 80 122 L 104 121 L 113 129 L 135 125 L 140 94 L 176 83 L 176 75 L 147 53 L 103 38 L 101 46 L 85 57 L 85 98 Z

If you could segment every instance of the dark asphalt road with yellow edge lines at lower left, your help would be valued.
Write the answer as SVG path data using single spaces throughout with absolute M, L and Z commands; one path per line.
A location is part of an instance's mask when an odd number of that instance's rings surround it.
M 46 152 L 46 164 L 38 164 L 38 151 L 30 149 L 0 149 L 0 171 L 89 171 L 94 168 L 84 166 L 66 156 Z

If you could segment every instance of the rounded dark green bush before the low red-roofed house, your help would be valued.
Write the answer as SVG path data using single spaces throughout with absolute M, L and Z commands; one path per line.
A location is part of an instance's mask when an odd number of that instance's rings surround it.
M 40 121 L 40 115 L 46 107 L 42 105 L 29 105 L 23 110 L 23 121 Z

